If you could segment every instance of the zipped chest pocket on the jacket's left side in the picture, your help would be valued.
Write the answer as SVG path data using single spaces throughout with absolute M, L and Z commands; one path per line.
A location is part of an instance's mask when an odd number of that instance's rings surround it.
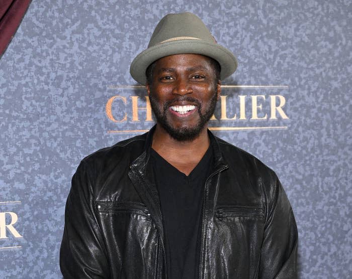
M 98 213 L 135 213 L 144 215 L 150 220 L 150 213 L 144 204 L 136 202 L 96 202 L 96 210 Z

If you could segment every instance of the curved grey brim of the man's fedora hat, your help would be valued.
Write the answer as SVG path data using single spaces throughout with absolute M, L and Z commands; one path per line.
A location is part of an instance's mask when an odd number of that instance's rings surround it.
M 237 60 L 228 49 L 203 40 L 178 40 L 155 45 L 146 49 L 132 61 L 130 73 L 140 84 L 146 84 L 145 71 L 154 61 L 173 54 L 201 54 L 211 57 L 221 66 L 220 78 L 230 76 L 237 68 Z

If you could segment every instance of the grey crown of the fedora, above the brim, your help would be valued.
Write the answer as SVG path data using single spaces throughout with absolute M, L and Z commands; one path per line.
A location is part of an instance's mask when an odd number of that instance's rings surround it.
M 178 40 L 203 40 L 216 42 L 202 20 L 192 13 L 168 14 L 155 27 L 150 38 L 149 47 Z

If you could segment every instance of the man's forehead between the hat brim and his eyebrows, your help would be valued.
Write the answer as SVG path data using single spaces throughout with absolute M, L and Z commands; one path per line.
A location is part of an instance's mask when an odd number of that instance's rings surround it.
M 155 69 L 204 68 L 212 70 L 211 59 L 200 54 L 174 54 L 155 61 Z

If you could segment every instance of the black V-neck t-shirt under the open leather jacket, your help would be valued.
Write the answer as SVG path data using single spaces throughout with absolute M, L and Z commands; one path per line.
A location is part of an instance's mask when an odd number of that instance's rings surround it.
M 169 279 L 198 276 L 204 185 L 213 165 L 211 146 L 186 176 L 151 149 L 160 198 Z

